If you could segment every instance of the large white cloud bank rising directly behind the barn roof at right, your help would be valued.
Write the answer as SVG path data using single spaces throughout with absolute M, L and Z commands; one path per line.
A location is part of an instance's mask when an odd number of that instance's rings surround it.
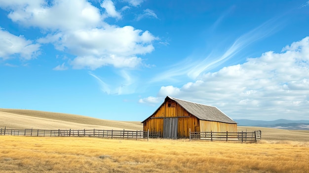
M 309 37 L 280 53 L 265 52 L 243 64 L 202 74 L 182 87 L 163 86 L 172 96 L 215 105 L 234 119 L 300 119 L 309 107 Z M 145 102 L 144 102 L 145 103 Z

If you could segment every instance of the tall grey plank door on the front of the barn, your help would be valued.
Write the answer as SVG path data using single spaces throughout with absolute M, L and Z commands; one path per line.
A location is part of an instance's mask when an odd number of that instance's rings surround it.
M 164 118 L 163 138 L 177 138 L 178 118 Z

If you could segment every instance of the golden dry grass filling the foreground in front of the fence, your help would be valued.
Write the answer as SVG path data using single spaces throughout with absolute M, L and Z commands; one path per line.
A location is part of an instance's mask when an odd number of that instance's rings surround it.
M 309 142 L 0 136 L 1 173 L 307 173 Z

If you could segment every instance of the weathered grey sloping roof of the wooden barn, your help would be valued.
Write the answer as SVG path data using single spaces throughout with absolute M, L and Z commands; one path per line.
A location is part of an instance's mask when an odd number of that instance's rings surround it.
M 205 105 L 205 104 L 196 104 L 189 101 L 184 101 L 181 99 L 176 99 L 170 96 L 165 98 L 174 100 L 176 103 L 181 105 L 185 108 L 189 113 L 193 114 L 200 120 L 207 120 L 207 121 L 218 121 L 223 123 L 236 123 L 232 120 L 228 115 L 224 114 L 220 109 L 215 106 Z

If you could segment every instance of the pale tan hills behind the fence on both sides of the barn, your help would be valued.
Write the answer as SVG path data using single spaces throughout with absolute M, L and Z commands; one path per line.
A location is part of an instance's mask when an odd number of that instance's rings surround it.
M 102 120 L 87 116 L 45 112 L 23 109 L 0 108 L 0 128 L 15 129 L 104 129 L 104 130 L 143 130 L 143 124 L 137 121 Z M 262 131 L 265 140 L 309 141 L 307 130 L 283 130 L 265 127 L 238 126 L 238 132 Z

